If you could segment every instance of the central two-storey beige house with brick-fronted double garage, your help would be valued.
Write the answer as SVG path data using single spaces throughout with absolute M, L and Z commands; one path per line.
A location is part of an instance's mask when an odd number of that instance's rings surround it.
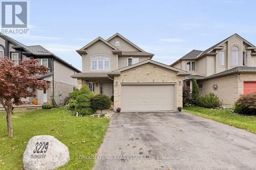
M 122 111 L 177 110 L 182 106 L 182 80 L 190 73 L 151 60 L 147 53 L 119 33 L 83 46 L 82 72 L 73 75 L 78 88 L 114 97 Z

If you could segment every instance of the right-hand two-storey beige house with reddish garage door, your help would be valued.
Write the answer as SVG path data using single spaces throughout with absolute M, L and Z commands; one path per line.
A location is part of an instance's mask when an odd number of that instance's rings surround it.
M 256 47 L 233 34 L 205 51 L 193 50 L 170 66 L 191 73 L 184 86 L 196 78 L 201 94 L 215 93 L 224 107 L 231 107 L 241 94 L 256 92 Z

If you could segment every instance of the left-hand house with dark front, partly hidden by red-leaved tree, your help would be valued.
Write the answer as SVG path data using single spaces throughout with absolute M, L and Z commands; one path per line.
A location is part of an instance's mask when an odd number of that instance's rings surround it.
M 71 78 L 71 75 L 81 71 L 40 45 L 26 46 L 7 35 L 0 34 L 0 56 L 11 58 L 16 65 L 33 57 L 39 59 L 38 64 L 49 67 L 48 74 L 41 76 L 41 79 L 48 82 L 49 89 L 36 90 L 36 98 L 24 99 L 30 104 L 33 104 L 35 99 L 38 105 L 51 103 L 54 94 L 55 102 L 62 105 L 66 97 L 77 87 L 77 80 Z

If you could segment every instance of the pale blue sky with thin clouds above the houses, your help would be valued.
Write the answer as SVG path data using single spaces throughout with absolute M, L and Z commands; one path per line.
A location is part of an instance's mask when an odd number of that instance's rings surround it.
M 120 33 L 153 60 L 171 64 L 189 51 L 206 48 L 238 33 L 256 44 L 256 1 L 30 1 L 30 36 L 81 70 L 75 52 L 93 39 Z

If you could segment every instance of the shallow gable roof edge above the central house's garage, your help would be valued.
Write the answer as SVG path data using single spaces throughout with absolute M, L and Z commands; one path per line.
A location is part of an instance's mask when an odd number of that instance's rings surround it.
M 119 72 L 122 72 L 124 70 L 131 69 L 131 68 L 134 68 L 134 67 L 137 67 L 137 66 L 140 66 L 140 65 L 143 65 L 143 64 L 147 64 L 147 63 L 155 64 L 155 65 L 170 69 L 172 71 L 175 71 L 175 72 L 179 73 L 179 75 L 191 75 L 187 71 L 184 71 L 184 70 L 178 69 L 178 68 L 174 68 L 174 67 L 168 66 L 166 64 L 163 64 L 163 63 L 151 60 L 151 59 L 148 59 L 148 60 L 133 64 L 133 65 L 130 65 L 130 66 L 126 66 L 126 67 L 114 70 L 114 71 L 110 72 L 108 75 L 114 75 L 115 73 L 119 73 Z

